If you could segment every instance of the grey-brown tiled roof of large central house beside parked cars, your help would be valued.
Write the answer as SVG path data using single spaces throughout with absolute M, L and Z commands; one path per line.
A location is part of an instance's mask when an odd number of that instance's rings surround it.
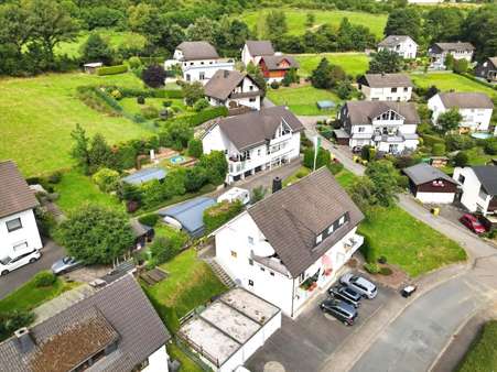
M 293 277 L 299 276 L 363 219 L 364 215 L 323 167 L 248 208 Z M 348 222 L 315 247 L 316 237 L 348 214 Z

